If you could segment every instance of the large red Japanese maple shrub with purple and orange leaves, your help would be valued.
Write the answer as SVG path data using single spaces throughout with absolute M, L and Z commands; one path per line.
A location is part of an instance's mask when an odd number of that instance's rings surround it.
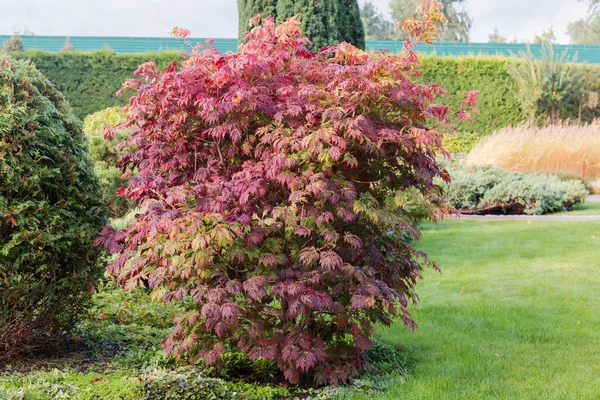
M 449 112 L 442 89 L 413 81 L 410 48 L 314 54 L 297 20 L 254 23 L 237 54 L 197 46 L 124 85 L 136 151 L 122 165 L 138 171 L 124 192 L 143 212 L 98 241 L 125 288 L 196 304 L 168 352 L 213 363 L 235 347 L 292 383 L 344 382 L 374 324 L 414 325 L 407 306 L 434 264 L 410 242 L 447 212 L 434 178 L 448 180 L 436 127 Z

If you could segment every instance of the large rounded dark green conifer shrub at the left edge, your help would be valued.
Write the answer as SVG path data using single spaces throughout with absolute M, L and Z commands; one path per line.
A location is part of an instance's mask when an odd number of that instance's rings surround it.
M 73 326 L 105 223 L 80 122 L 31 63 L 0 56 L 0 358 Z

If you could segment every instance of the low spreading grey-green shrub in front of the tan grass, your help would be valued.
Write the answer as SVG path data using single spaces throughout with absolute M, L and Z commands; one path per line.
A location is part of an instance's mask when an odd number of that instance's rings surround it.
M 583 202 L 588 190 L 580 180 L 554 175 L 508 172 L 490 166 L 450 168 L 448 201 L 465 213 L 540 215 Z

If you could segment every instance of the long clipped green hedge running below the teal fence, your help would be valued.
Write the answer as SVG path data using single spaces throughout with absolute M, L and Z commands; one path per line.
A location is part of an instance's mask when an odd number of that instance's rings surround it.
M 180 59 L 177 52 L 116 54 L 109 50 L 60 53 L 30 50 L 16 53 L 15 56 L 32 60 L 64 93 L 80 118 L 107 107 L 124 104 L 128 96 L 117 98 L 115 92 L 132 76 L 139 64 L 154 61 L 159 68 L 165 68 Z M 457 106 L 465 91 L 476 89 L 481 92 L 481 112 L 476 115 L 473 124 L 465 122 L 460 125 L 463 132 L 460 140 L 474 141 L 476 137 L 507 125 L 518 124 L 526 118 L 517 102 L 518 88 L 506 69 L 506 64 L 511 59 L 423 55 L 421 60 L 423 80 L 436 82 L 450 93 L 450 99 L 444 100 L 444 103 Z M 576 68 L 585 69 L 586 76 L 590 76 L 591 80 L 598 80 L 600 86 L 599 65 L 578 64 Z M 570 116 L 577 118 L 577 115 Z M 586 111 L 584 120 L 598 116 L 600 107 Z M 470 146 L 467 144 L 467 147 Z

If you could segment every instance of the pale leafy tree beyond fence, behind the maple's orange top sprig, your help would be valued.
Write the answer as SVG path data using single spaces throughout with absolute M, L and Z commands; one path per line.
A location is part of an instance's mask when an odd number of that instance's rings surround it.
M 447 25 L 444 28 L 440 41 L 443 42 L 468 42 L 473 19 L 465 10 L 465 0 L 441 0 L 442 12 L 446 17 Z M 396 21 L 404 21 L 415 14 L 415 10 L 423 0 L 391 0 L 390 8 L 392 17 Z

